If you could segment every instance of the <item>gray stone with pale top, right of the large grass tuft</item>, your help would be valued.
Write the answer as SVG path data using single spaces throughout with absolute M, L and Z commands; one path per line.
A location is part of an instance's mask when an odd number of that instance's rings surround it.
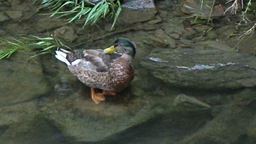
M 118 20 L 121 23 L 135 23 L 152 20 L 157 10 L 153 0 L 124 0 Z

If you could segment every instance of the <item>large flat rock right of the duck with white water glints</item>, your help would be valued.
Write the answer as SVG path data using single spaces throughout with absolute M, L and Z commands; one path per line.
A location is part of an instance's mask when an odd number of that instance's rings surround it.
M 241 89 L 256 86 L 256 59 L 203 47 L 154 49 L 141 61 L 154 77 L 175 87 Z

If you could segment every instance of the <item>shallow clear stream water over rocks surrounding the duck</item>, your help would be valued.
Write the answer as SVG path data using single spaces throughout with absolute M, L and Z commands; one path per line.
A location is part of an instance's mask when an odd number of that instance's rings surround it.
M 114 31 L 131 29 L 103 39 L 99 36 L 111 33 L 106 30 L 111 23 L 85 30 L 68 25 L 78 35 L 76 42 L 67 42 L 73 49 L 103 49 L 118 37 L 137 44 L 134 81 L 99 105 L 53 54 L 28 59 L 33 52 L 18 51 L 0 60 L 0 143 L 255 143 L 255 43 L 234 51 L 236 39 L 221 39 L 228 35 L 223 31 L 231 31 L 226 20 L 204 35 L 200 25 L 179 23 L 186 14 L 175 14 L 180 7 L 166 2 L 156 2 L 159 23 L 117 24 Z M 0 23 L 4 39 L 46 36 L 62 27 L 47 21 L 50 29 L 38 30 L 42 19 L 26 3 L 32 5 L 26 1 L 17 7 L 26 8 L 26 19 Z M 34 16 L 27 18 L 31 11 Z

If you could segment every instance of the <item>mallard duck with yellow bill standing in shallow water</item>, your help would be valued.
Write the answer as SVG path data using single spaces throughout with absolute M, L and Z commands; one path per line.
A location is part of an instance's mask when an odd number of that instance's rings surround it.
M 135 44 L 128 38 L 118 38 L 105 50 L 60 49 L 55 57 L 68 65 L 69 71 L 82 83 L 91 87 L 92 100 L 98 104 L 104 95 L 116 95 L 125 89 L 134 78 L 132 60 Z M 95 92 L 94 89 L 102 92 Z

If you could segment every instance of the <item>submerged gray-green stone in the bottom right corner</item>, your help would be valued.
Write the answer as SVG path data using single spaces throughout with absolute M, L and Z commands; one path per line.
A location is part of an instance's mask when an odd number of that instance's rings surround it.
M 185 137 L 179 143 L 244 143 L 244 141 L 254 143 L 256 138 L 254 125 L 255 114 L 250 108 L 226 106 L 201 129 Z M 246 140 L 241 140 L 244 137 Z

